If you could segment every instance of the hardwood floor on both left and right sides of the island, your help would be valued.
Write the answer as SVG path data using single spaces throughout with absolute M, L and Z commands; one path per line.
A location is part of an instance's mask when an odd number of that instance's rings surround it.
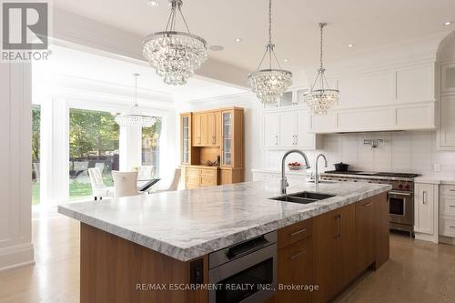
M 45 212 L 34 216 L 33 267 L 0 272 L 0 302 L 78 302 L 79 224 Z M 338 302 L 455 302 L 455 247 L 390 235 L 390 259 Z

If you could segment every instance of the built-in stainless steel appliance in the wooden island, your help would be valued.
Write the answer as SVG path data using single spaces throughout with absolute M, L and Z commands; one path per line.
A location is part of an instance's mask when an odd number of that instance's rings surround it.
M 277 232 L 223 248 L 208 256 L 210 303 L 263 302 L 276 293 Z

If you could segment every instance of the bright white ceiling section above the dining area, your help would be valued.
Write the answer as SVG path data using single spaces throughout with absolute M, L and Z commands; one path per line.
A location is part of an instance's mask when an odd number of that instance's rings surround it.
M 34 74 L 42 76 L 66 76 L 93 81 L 105 85 L 134 87 L 134 73 L 139 89 L 168 95 L 168 100 L 190 101 L 201 98 L 234 95 L 243 93 L 238 88 L 223 86 L 192 77 L 186 86 L 168 86 L 155 70 L 149 66 L 139 66 L 106 56 L 97 56 L 66 47 L 52 45 L 52 55 L 48 61 L 35 61 Z

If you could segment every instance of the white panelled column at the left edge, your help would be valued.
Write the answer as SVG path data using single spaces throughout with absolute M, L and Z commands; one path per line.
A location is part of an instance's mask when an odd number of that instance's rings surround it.
M 31 66 L 0 64 L 0 270 L 34 263 Z

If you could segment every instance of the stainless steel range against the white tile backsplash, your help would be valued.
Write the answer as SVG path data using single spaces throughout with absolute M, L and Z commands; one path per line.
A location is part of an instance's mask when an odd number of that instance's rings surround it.
M 326 171 L 320 174 L 323 180 L 368 182 L 389 184 L 390 229 L 414 232 L 414 178 L 417 174 L 366 172 L 366 171 Z

